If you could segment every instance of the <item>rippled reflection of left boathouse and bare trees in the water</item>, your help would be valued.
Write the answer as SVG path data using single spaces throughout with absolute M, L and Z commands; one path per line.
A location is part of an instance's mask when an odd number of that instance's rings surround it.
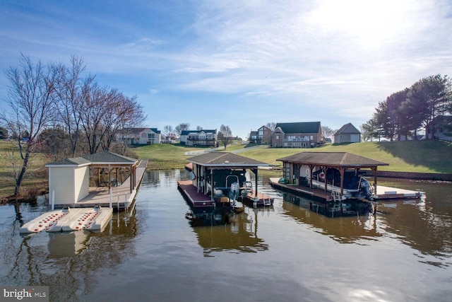
M 25 211 L 29 206 L 22 207 L 26 217 L 39 216 L 46 208 L 37 204 Z M 135 217 L 134 213 L 114 216 L 103 233 L 41 232 L 20 236 L 20 221 L 13 211 L 8 211 L 1 223 L 11 219 L 13 227 L 0 228 L 0 257 L 6 260 L 1 265 L 0 284 L 47 285 L 50 301 L 73 301 L 78 294 L 93 290 L 99 281 L 97 272 L 117 267 L 136 255 L 132 240 L 137 233 Z

